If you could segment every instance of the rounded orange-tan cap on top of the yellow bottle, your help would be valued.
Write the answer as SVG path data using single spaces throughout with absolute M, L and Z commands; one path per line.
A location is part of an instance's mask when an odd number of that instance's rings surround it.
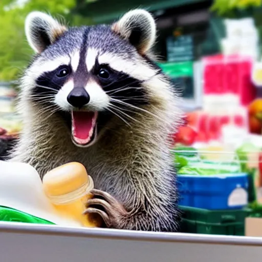
M 78 162 L 70 162 L 47 172 L 42 180 L 43 189 L 49 198 L 63 197 L 73 200 L 93 188 L 93 180 L 85 167 Z M 73 199 L 72 199 L 73 198 Z

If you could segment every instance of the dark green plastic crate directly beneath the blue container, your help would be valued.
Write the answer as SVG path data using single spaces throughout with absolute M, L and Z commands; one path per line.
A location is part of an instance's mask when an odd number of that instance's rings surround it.
M 245 219 L 250 209 L 207 210 L 183 207 L 181 231 L 184 233 L 244 235 Z

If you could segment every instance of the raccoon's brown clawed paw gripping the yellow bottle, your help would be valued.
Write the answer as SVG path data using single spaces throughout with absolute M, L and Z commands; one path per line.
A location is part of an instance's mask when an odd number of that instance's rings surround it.
M 94 195 L 94 198 L 86 202 L 87 208 L 84 214 L 99 214 L 107 228 L 120 229 L 122 221 L 127 215 L 124 206 L 113 198 L 112 195 L 104 191 L 93 189 L 91 193 Z

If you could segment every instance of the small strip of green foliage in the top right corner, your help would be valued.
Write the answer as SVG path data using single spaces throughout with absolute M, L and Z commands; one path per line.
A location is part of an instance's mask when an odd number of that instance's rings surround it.
M 244 10 L 261 5 L 262 0 L 215 0 L 211 10 L 221 16 L 226 16 L 234 10 Z

